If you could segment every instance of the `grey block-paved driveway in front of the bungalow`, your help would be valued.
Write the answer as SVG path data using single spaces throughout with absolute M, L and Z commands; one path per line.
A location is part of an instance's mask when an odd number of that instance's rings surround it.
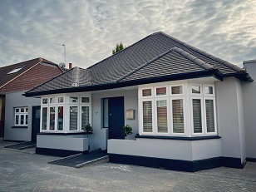
M 47 164 L 56 157 L 2 145 L 0 191 L 256 191 L 256 163 L 196 173 L 111 163 L 76 169 Z

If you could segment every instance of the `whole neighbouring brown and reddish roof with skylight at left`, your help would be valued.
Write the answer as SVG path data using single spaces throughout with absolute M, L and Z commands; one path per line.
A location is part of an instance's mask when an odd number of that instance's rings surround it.
M 27 91 L 61 74 L 62 69 L 43 58 L 0 67 L 0 94 Z

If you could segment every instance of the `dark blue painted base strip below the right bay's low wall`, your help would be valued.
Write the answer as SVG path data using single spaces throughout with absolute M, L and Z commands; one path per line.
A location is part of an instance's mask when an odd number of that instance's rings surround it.
M 145 157 L 136 155 L 108 154 L 111 163 L 139 165 L 154 167 L 166 170 L 180 170 L 195 172 L 199 170 L 209 170 L 220 166 L 227 166 L 242 169 L 241 159 L 230 157 L 214 157 L 204 160 L 170 160 L 156 157 Z

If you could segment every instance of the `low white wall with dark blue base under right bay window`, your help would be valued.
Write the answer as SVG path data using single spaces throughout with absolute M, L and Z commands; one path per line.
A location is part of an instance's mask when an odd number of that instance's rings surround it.
M 108 140 L 113 163 L 142 165 L 168 170 L 198 171 L 222 165 L 243 168 L 240 159 L 222 156 L 221 140 L 147 139 Z

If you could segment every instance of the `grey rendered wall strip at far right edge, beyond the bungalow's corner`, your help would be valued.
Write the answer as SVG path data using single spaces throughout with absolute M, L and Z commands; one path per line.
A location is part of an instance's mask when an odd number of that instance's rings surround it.
M 244 62 L 244 66 L 254 79 L 243 83 L 246 154 L 256 158 L 256 60 Z

